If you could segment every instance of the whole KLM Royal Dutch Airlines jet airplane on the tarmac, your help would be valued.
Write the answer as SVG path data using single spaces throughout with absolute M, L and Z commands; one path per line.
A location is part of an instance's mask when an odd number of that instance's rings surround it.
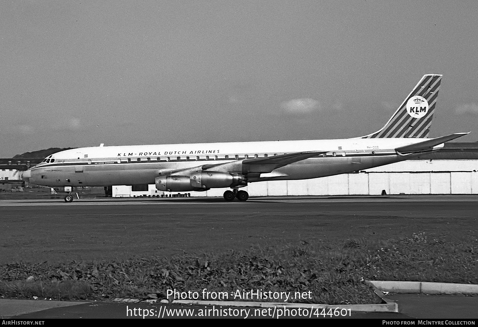
M 298 180 L 392 164 L 431 153 L 467 135 L 428 138 L 442 75 L 424 75 L 390 120 L 374 133 L 336 140 L 221 142 L 77 148 L 54 153 L 22 175 L 50 187 L 155 184 L 161 191 L 225 188 L 246 201 L 249 183 Z M 73 196 L 65 196 L 72 202 Z

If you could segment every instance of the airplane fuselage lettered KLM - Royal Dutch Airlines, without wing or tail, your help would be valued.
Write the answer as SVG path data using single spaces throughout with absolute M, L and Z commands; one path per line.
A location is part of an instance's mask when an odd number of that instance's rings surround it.
M 308 179 L 354 172 L 413 158 L 416 154 L 404 156 L 397 154 L 394 149 L 423 140 L 353 138 L 88 147 L 55 153 L 46 162 L 24 172 L 23 178 L 32 184 L 51 187 L 145 185 L 154 184 L 159 172 L 164 170 L 222 164 L 284 153 L 327 151 L 318 157 L 252 176 L 248 182 Z M 434 147 L 434 150 L 441 147 L 443 144 Z

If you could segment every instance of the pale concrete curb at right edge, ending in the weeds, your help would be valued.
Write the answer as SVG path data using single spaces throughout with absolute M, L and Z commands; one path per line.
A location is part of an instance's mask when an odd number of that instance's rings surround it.
M 383 292 L 397 294 L 478 294 L 477 284 L 369 281 Z

